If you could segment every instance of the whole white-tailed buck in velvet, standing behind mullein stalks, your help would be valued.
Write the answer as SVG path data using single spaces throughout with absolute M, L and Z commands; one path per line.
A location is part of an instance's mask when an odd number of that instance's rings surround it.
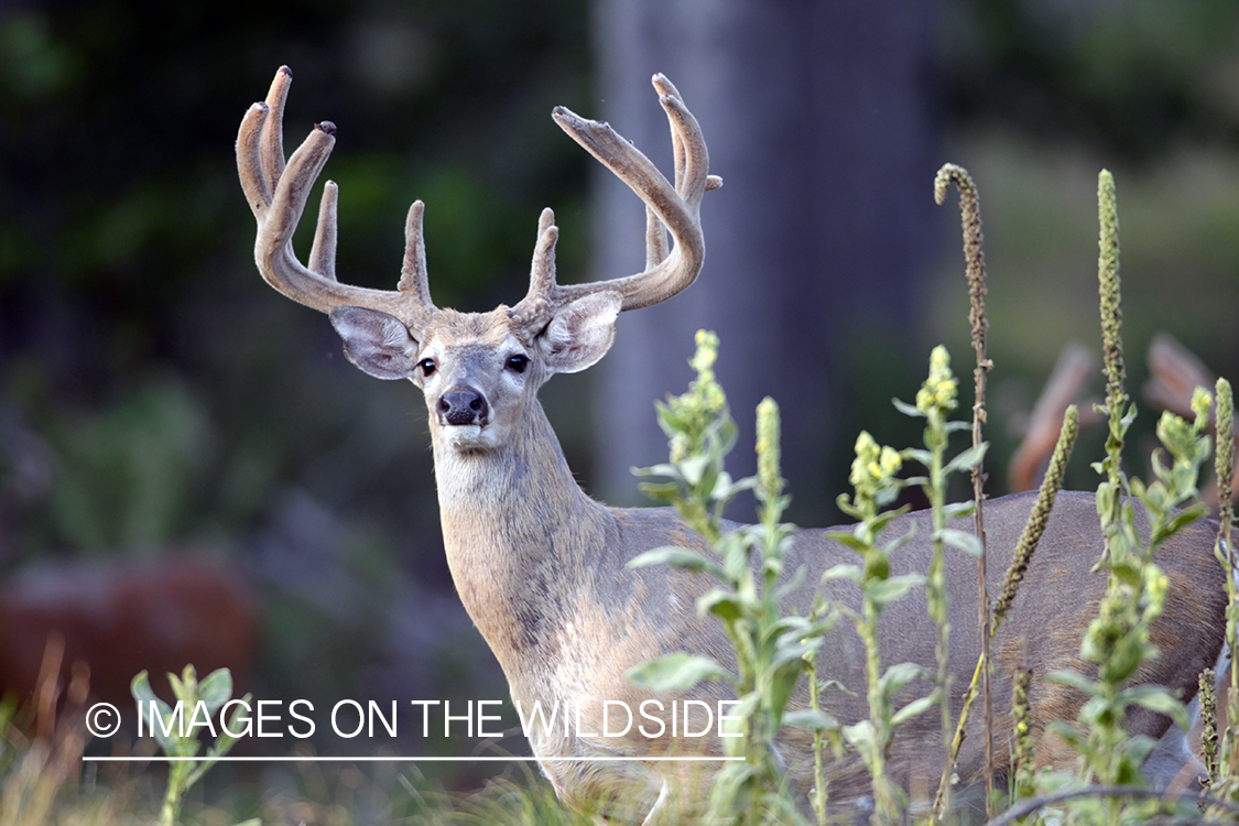
M 638 819 L 646 816 L 648 822 L 672 807 L 691 809 L 700 788 L 685 784 L 694 783 L 689 778 L 700 772 L 701 763 L 591 758 L 722 754 L 716 737 L 672 737 L 669 718 L 660 737 L 646 737 L 636 726 L 623 736 L 608 737 L 603 731 L 605 701 L 636 710 L 647 698 L 624 679 L 632 666 L 681 650 L 735 663 L 720 623 L 700 617 L 695 609 L 695 599 L 711 586 L 706 577 L 665 566 L 624 567 L 654 547 L 704 550 L 703 542 L 670 509 L 608 508 L 585 495 L 536 394 L 553 374 L 576 373 L 601 359 L 611 347 L 620 312 L 665 301 L 696 279 L 705 253 L 699 209 L 706 191 L 720 183 L 707 175 L 705 141 L 696 120 L 670 82 L 655 76 L 654 88 L 670 120 L 675 149 L 673 186 L 608 125 L 555 109 L 555 123 L 646 203 L 647 267 L 611 281 L 556 284 L 554 249 L 559 230 L 546 209 L 538 225 L 525 297 L 512 307 L 463 313 L 440 310 L 430 300 L 420 202 L 409 212 L 404 267 L 395 291 L 347 286 L 336 280 L 337 196 L 331 182 L 325 187 L 309 266 L 297 260 L 291 248 L 292 232 L 335 144 L 336 130 L 330 123 L 316 125 L 285 166 L 281 120 L 290 79 L 289 71 L 281 68 L 266 102 L 254 104 L 245 114 L 237 139 L 242 187 L 258 218 L 259 271 L 286 296 L 330 313 L 344 341 L 346 355 L 358 368 L 380 379 L 409 379 L 425 394 L 444 545 L 461 599 L 523 708 L 540 702 L 543 708 L 575 711 L 569 727 L 535 727 L 530 732 L 534 754 L 543 759 L 541 768 L 560 798 L 600 816 L 610 812 L 631 817 L 634 807 L 641 807 Z M 665 230 L 674 239 L 670 249 Z M 994 570 L 1009 562 L 1032 502 L 1031 495 L 1016 495 L 986 504 Z M 932 533 L 928 518 L 906 515 L 891 531 L 907 533 L 911 523 L 917 524 L 917 539 L 895 555 L 896 567 L 924 571 Z M 1218 659 L 1225 594 L 1223 572 L 1212 552 L 1213 540 L 1213 526 L 1197 524 L 1160 552 L 1158 562 L 1170 577 L 1166 611 L 1152 629 L 1161 656 L 1144 667 L 1137 682 L 1167 686 L 1191 698 L 1197 675 Z M 1105 576 L 1090 573 L 1100 550 L 1093 498 L 1061 495 L 995 640 L 999 774 L 1007 763 L 1002 743 L 1011 728 L 1006 712 L 1015 669 L 1027 665 L 1037 676 L 1044 676 L 1088 667 L 1079 658 L 1080 637 L 1097 615 L 1105 591 Z M 787 570 L 803 566 L 805 585 L 789 607 L 807 611 L 815 591 L 857 606 L 854 583 L 835 580 L 819 585 L 825 570 L 854 560 L 852 551 L 825 541 L 821 531 L 799 531 Z M 979 649 L 974 562 L 955 560 L 948 580 L 954 629 L 950 669 L 958 713 Z M 850 723 L 867 716 L 865 656 L 856 635 L 844 625 L 840 623 L 828 635 L 819 669 L 823 679 L 838 680 L 850 690 L 826 695 L 826 711 Z M 893 603 L 882 617 L 886 664 L 930 665 L 934 640 L 923 594 L 913 593 Z M 727 698 L 727 690 L 717 682 L 703 684 L 684 698 L 712 705 Z M 1073 759 L 1062 742 L 1044 734 L 1044 727 L 1053 719 L 1074 719 L 1080 702 L 1082 695 L 1073 689 L 1035 681 L 1031 705 L 1041 763 L 1062 765 Z M 804 697 L 799 705 L 807 705 Z M 615 732 L 616 706 L 611 708 Z M 942 734 L 934 717 L 922 715 L 897 732 L 891 770 L 907 788 L 932 791 L 937 785 Z M 1175 732 L 1167 733 L 1168 727 L 1166 717 L 1144 711 L 1130 718 L 1132 733 L 1182 741 Z M 649 723 L 647 732 L 654 728 Z M 700 728 L 701 721 L 693 723 L 694 731 Z M 958 765 L 964 783 L 975 781 L 985 770 L 979 728 L 973 726 L 969 733 Z M 803 731 L 789 731 L 782 743 L 782 759 L 802 794 L 812 786 L 810 743 L 810 734 Z M 1181 765 L 1166 770 L 1173 774 Z M 855 801 L 869 794 L 859 758 L 831 763 L 826 776 L 833 801 Z

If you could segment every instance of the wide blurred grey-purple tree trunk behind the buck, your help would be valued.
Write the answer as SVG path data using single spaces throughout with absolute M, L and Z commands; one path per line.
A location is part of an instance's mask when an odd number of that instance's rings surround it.
M 821 518 L 844 490 L 846 469 L 836 468 L 846 468 L 855 433 L 839 428 L 841 359 L 861 339 L 907 355 L 927 261 L 940 249 L 930 232 L 942 227 L 932 201 L 934 7 L 600 0 L 605 116 L 669 171 L 667 118 L 649 84 L 665 73 L 725 182 L 703 207 L 699 284 L 621 316 L 600 364 L 593 487 L 605 499 L 639 502 L 629 468 L 665 461 L 652 401 L 684 390 L 703 327 L 722 339 L 719 375 L 741 428 L 733 473 L 752 472 L 753 409 L 772 395 L 783 411 L 790 516 Z M 596 192 L 596 277 L 641 270 L 639 202 L 608 176 Z

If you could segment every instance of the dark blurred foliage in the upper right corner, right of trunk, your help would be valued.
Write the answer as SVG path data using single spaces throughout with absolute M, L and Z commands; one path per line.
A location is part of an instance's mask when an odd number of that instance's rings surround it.
M 959 0 L 943 4 L 953 120 L 1072 136 L 1111 162 L 1156 163 L 1239 126 L 1229 0 Z

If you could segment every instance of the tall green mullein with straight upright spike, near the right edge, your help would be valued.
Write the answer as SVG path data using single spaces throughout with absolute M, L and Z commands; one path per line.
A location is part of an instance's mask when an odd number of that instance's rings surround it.
M 1157 656 L 1149 629 L 1162 612 L 1167 580 L 1154 562 L 1154 554 L 1166 539 L 1206 513 L 1197 499 L 1197 480 L 1201 464 L 1211 450 L 1204 427 L 1212 399 L 1208 393 L 1197 390 L 1192 400 L 1193 422 L 1170 412 L 1162 415 L 1157 436 L 1170 456 L 1170 464 L 1160 452 L 1154 456 L 1156 478 L 1151 484 L 1125 477 L 1121 453 L 1135 407 L 1129 404 L 1124 390 L 1119 220 L 1114 178 L 1104 170 L 1099 177 L 1098 201 L 1101 225 L 1098 269 L 1106 375 L 1106 401 L 1099 410 L 1108 417 L 1109 436 L 1105 458 L 1093 467 L 1104 477 L 1097 494 L 1105 537 L 1098 567 L 1109 573 L 1109 586 L 1099 615 L 1089 625 L 1080 645 L 1080 658 L 1098 666 L 1097 679 L 1075 672 L 1049 675 L 1049 679 L 1074 686 L 1088 696 L 1080 710 L 1079 724 L 1058 722 L 1053 731 L 1082 755 L 1082 779 L 1085 781 L 1108 786 L 1140 785 L 1144 783 L 1140 767 L 1154 743 L 1127 737 L 1127 708 L 1142 706 L 1187 727 L 1183 705 L 1165 689 L 1124 686 L 1141 664 Z M 1134 509 L 1137 502 L 1149 518 L 1149 542 L 1141 541 L 1136 533 Z M 1092 805 L 1095 802 L 1080 802 L 1077 810 Z M 1120 822 L 1123 809 L 1119 801 L 1103 805 L 1105 819 Z M 1129 814 L 1140 816 L 1135 811 Z

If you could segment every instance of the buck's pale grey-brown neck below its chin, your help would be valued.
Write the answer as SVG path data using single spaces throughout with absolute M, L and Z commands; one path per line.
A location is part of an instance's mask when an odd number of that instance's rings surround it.
M 447 565 L 461 602 L 509 681 L 587 586 L 586 560 L 613 521 L 585 495 L 538 404 L 507 443 L 460 453 L 432 428 Z M 538 658 L 534 658 L 536 660 Z

